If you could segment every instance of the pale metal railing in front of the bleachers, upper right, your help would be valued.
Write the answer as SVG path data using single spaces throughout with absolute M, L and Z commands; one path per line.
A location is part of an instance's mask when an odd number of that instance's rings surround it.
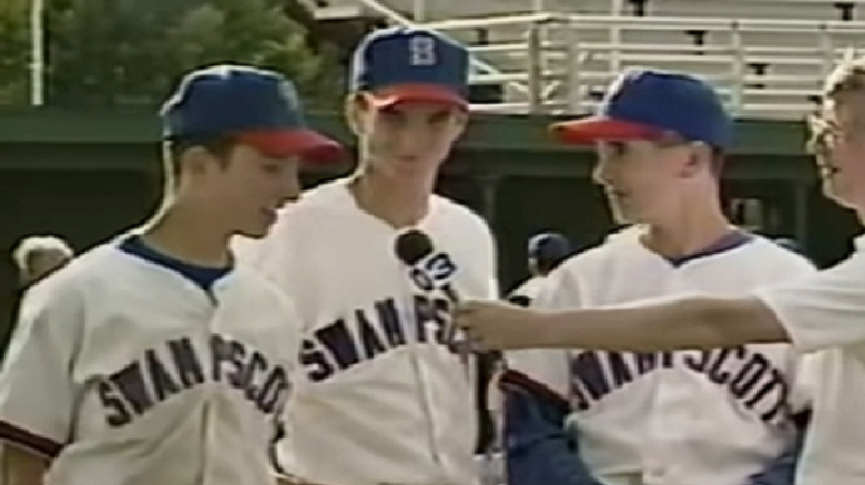
M 838 60 L 865 44 L 861 21 L 533 12 L 416 22 L 379 0 L 360 3 L 468 44 L 472 83 L 502 86 L 500 101 L 472 105 L 491 113 L 587 112 L 622 69 L 641 65 L 706 79 L 736 115 L 798 118 Z

